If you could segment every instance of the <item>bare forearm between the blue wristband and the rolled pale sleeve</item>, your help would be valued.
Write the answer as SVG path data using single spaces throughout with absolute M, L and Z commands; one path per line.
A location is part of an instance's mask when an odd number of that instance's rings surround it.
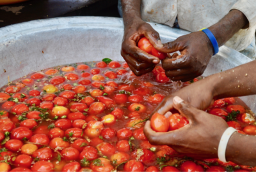
M 239 29 L 243 29 L 248 25 L 245 15 L 239 10 L 230 11 L 220 22 L 209 27 L 218 41 L 219 47 L 224 45 L 228 39 L 232 38 Z

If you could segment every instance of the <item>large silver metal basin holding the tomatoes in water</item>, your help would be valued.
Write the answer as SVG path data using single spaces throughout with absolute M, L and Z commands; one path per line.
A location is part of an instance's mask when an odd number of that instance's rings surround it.
M 163 42 L 172 41 L 188 31 L 151 24 Z M 124 61 L 120 55 L 122 18 L 67 17 L 35 20 L 0 29 L 0 87 L 33 71 L 51 66 L 109 57 Z M 228 47 L 212 57 L 204 76 L 234 68 L 251 60 Z M 4 73 L 4 71 L 6 71 Z M 241 97 L 256 111 L 255 96 Z

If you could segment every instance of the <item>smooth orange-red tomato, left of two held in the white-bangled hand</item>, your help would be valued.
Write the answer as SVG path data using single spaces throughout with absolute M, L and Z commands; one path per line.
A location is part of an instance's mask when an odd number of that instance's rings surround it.
M 155 113 L 150 120 L 150 125 L 156 132 L 166 132 L 168 131 L 170 124 L 164 115 Z

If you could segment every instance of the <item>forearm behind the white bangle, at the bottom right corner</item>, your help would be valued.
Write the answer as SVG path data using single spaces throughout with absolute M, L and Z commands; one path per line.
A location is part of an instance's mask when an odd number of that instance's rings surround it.
M 227 161 L 256 166 L 256 138 L 240 133 L 234 133 L 228 141 L 226 150 Z

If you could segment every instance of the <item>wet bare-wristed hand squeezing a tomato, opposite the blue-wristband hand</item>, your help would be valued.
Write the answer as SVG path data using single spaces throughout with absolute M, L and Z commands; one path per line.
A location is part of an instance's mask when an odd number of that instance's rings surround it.
M 160 37 L 150 24 L 141 19 L 134 19 L 125 25 L 121 55 L 136 76 L 152 71 L 160 60 L 137 47 L 138 41 L 146 37 L 152 45 L 160 44 Z

